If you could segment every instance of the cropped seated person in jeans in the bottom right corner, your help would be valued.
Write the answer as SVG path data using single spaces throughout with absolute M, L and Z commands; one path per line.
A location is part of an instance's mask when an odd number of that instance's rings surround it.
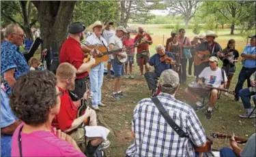
M 230 145 L 231 145 L 232 149 L 230 149 L 229 147 L 223 147 L 223 148 L 221 148 L 220 155 L 221 155 L 221 157 L 256 156 L 255 141 L 256 141 L 256 137 L 255 137 L 255 133 L 254 133 L 253 135 L 251 135 L 251 137 L 246 142 L 244 150 L 242 150 L 240 147 L 238 147 L 238 143 L 236 142 L 236 140 L 233 137 L 231 137 Z

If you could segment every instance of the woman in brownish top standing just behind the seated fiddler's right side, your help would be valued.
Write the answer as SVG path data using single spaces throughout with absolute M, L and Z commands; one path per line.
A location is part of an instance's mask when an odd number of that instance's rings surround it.
M 178 40 L 178 35 L 177 33 L 173 32 L 171 34 L 171 36 L 173 37 L 172 41 L 169 42 L 167 50 L 168 52 L 172 52 L 173 56 L 175 57 L 176 60 L 176 67 L 175 67 L 175 71 L 179 74 L 179 77 L 182 77 L 182 71 L 180 69 L 181 65 L 180 65 L 180 41 Z

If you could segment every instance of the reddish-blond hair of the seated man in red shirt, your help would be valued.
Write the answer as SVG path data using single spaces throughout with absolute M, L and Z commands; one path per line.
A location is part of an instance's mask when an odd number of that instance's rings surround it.
M 56 71 L 57 80 L 72 78 L 76 75 L 76 68 L 70 63 L 61 63 Z

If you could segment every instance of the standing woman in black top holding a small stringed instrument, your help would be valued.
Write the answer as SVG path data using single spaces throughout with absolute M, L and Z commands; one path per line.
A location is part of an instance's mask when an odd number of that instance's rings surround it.
M 234 39 L 230 39 L 227 43 L 227 48 L 223 50 L 223 53 L 220 56 L 221 60 L 223 60 L 222 69 L 227 73 L 227 89 L 229 89 L 233 74 L 236 72 L 235 63 L 238 61 L 239 57 L 239 53 L 238 50 L 235 49 L 235 45 L 236 41 Z M 225 95 L 227 95 L 227 92 L 225 92 Z

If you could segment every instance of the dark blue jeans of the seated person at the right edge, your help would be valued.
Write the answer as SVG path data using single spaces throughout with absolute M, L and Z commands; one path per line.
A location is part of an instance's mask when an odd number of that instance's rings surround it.
M 242 99 L 242 104 L 244 105 L 244 109 L 251 109 L 251 96 L 253 96 L 253 101 L 256 101 L 256 93 L 250 92 L 249 88 L 244 88 L 239 91 L 239 97 Z

